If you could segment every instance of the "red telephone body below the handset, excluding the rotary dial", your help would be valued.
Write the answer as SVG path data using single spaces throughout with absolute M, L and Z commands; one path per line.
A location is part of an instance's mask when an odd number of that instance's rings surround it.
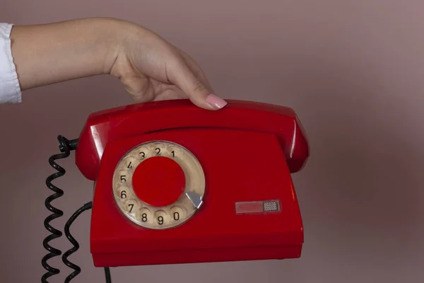
M 138 226 L 116 209 L 111 188 L 114 165 L 122 152 L 146 140 L 181 144 L 206 168 L 204 204 L 173 229 Z M 275 135 L 232 129 L 168 130 L 110 142 L 106 154 L 93 200 L 90 251 L 95 266 L 300 257 L 300 209 Z M 276 211 L 256 210 L 256 202 L 268 200 L 278 200 Z

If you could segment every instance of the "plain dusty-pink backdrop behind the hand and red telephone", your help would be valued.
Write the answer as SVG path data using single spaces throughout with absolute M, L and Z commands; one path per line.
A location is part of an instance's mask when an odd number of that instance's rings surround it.
M 223 98 L 293 107 L 312 156 L 293 175 L 305 222 L 299 260 L 121 267 L 113 282 L 424 282 L 423 1 L 6 0 L 0 21 L 86 16 L 135 21 L 201 64 Z M 27 11 L 27 12 L 25 12 Z M 107 76 L 23 93 L 0 108 L 0 277 L 39 282 L 57 134 L 78 137 L 90 112 L 131 103 Z M 413 125 L 416 123 L 416 125 Z M 263 153 L 266 154 L 266 153 Z M 73 165 L 55 184 L 65 217 L 92 197 Z M 421 170 L 420 170 L 421 169 Z M 72 227 L 82 267 L 73 282 L 104 282 L 88 246 L 90 212 Z M 65 238 L 54 241 L 70 248 Z M 50 261 L 63 282 L 71 270 Z

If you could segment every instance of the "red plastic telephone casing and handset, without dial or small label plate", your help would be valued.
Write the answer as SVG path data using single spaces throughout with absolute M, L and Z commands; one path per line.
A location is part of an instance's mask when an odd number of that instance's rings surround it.
M 185 224 L 136 226 L 112 195 L 114 168 L 145 141 L 172 141 L 199 160 L 204 204 Z M 204 110 L 189 100 L 129 105 L 93 113 L 83 127 L 76 165 L 95 180 L 90 231 L 94 265 L 126 266 L 300 257 L 303 226 L 290 173 L 309 156 L 290 108 L 228 100 Z M 279 200 L 281 212 L 236 214 L 236 202 Z

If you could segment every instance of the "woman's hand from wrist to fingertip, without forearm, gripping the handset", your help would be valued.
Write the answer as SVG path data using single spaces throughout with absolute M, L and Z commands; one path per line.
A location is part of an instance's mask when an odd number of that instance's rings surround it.
M 122 22 L 125 33 L 106 59 L 136 102 L 189 98 L 201 108 L 219 109 L 225 101 L 214 96 L 205 74 L 194 60 L 159 35 Z

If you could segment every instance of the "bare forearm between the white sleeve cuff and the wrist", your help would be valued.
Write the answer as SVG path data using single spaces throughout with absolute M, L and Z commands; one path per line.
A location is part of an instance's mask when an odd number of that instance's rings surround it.
M 107 74 L 121 24 L 110 18 L 86 18 L 14 26 L 11 48 L 20 88 Z

